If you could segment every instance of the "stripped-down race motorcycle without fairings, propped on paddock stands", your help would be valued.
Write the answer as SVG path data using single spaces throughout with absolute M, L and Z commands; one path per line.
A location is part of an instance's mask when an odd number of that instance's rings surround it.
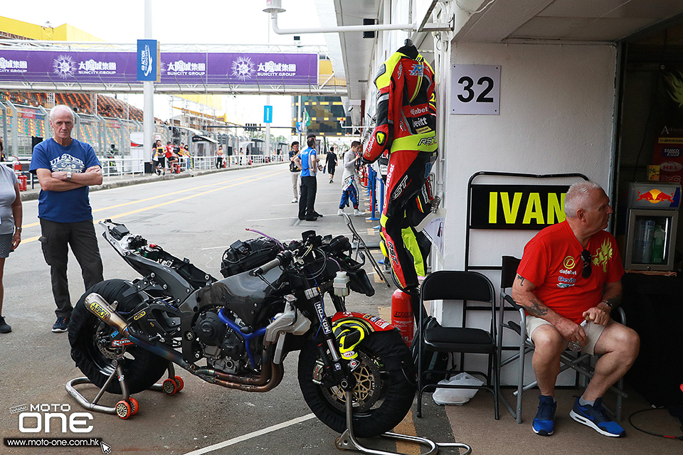
M 408 414 L 415 373 L 398 329 L 346 310 L 349 290 L 374 295 L 364 257 L 351 259 L 346 237 L 311 230 L 284 243 L 267 236 L 238 240 L 223 254 L 223 279 L 215 279 L 125 225 L 100 225 L 142 277 L 101 282 L 73 309 L 71 357 L 98 387 L 127 397 L 152 387 L 168 369 L 163 388 L 173 393 L 183 387 L 173 373 L 178 365 L 212 384 L 268 392 L 282 380 L 285 356 L 300 350 L 302 394 L 334 431 L 346 429 L 349 390 L 357 437 L 388 432 Z M 324 296 L 334 306 L 331 317 Z M 112 380 L 115 365 L 124 387 Z

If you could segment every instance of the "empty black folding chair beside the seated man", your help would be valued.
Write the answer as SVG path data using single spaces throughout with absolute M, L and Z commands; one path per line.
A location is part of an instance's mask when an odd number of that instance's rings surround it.
M 479 272 L 453 272 L 440 270 L 429 274 L 420 288 L 420 309 L 424 309 L 426 301 L 443 300 L 446 306 L 452 300 L 462 300 L 462 326 L 443 327 L 436 319 L 425 316 L 426 311 L 418 311 L 418 334 L 415 341 L 418 344 L 418 417 L 422 417 L 422 394 L 437 388 L 468 388 L 484 389 L 493 394 L 494 417 L 499 418 L 498 393 L 499 378 L 497 369 L 496 345 L 496 296 L 491 281 Z M 470 301 L 486 303 L 487 305 L 470 305 Z M 466 327 L 467 311 L 490 311 L 491 325 L 489 330 Z M 413 341 L 413 343 L 415 343 Z M 462 367 L 465 353 L 479 353 L 488 356 L 487 373 L 468 371 L 464 368 L 450 370 L 435 370 L 424 368 L 423 357 L 429 352 L 460 353 Z M 440 385 L 425 384 L 427 375 L 470 373 L 481 375 L 485 383 L 475 385 Z M 491 383 L 493 382 L 493 383 Z

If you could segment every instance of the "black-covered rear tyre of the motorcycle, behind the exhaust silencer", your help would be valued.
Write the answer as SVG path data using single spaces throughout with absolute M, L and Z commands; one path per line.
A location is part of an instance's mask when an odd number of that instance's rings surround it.
M 114 368 L 112 359 L 107 358 L 95 343 L 95 335 L 100 329 L 104 333 L 113 333 L 114 328 L 97 319 L 85 307 L 85 297 L 91 292 L 97 292 L 108 303 L 117 301 L 117 313 L 125 316 L 140 303 L 137 294 L 125 298 L 124 292 L 132 287 L 132 284 L 123 279 L 108 279 L 95 284 L 78 299 L 78 303 L 71 313 L 69 323 L 69 343 L 71 345 L 71 358 L 85 376 L 97 387 L 105 385 L 107 378 Z M 159 355 L 140 348 L 139 346 L 127 346 L 122 360 L 123 373 L 128 384 L 129 393 L 138 393 L 152 387 L 169 365 L 169 361 Z M 117 395 L 122 394 L 119 381 L 112 380 L 107 387 L 107 392 Z

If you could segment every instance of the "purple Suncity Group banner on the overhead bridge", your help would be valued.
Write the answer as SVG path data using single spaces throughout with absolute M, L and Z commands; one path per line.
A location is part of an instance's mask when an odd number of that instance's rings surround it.
M 0 80 L 137 83 L 137 54 L 0 50 Z M 160 84 L 317 85 L 316 54 L 162 53 Z

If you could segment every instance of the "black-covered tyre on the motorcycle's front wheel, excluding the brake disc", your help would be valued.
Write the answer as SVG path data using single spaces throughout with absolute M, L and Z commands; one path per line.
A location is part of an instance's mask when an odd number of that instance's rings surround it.
M 393 359 L 407 360 L 402 369 L 386 371 L 380 368 L 383 390 L 382 401 L 378 407 L 364 412 L 353 412 L 354 435 L 361 438 L 376 437 L 396 427 L 413 405 L 415 373 L 410 360 L 411 355 L 398 331 L 371 333 L 356 350 L 378 360 L 379 363 L 383 363 L 382 359 L 389 356 Z M 329 401 L 330 395 L 323 392 L 323 386 L 312 381 L 318 358 L 319 351 L 315 344 L 306 343 L 299 354 L 298 375 L 301 392 L 316 417 L 335 432 L 342 433 L 346 429 L 343 402 L 339 401 L 337 406 L 333 405 Z

